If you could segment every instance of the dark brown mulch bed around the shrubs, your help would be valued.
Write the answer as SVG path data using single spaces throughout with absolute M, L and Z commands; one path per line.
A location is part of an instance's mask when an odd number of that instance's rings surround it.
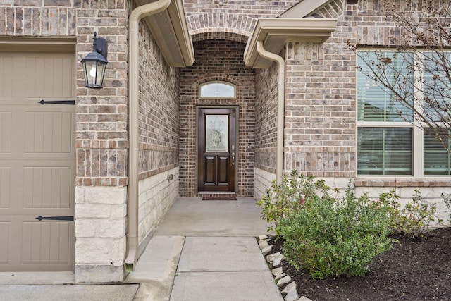
M 296 281 L 299 297 L 311 300 L 451 300 L 451 227 L 431 231 L 426 238 L 395 238 L 399 242 L 375 257 L 363 277 L 314 280 L 286 260 L 283 271 Z M 283 241 L 271 243 L 272 252 L 279 252 Z

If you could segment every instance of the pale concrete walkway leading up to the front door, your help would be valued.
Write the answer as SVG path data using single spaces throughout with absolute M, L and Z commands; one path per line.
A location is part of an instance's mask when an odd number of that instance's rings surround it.
M 127 278 L 141 283 L 135 300 L 283 300 L 255 239 L 260 216 L 252 198 L 178 199 Z

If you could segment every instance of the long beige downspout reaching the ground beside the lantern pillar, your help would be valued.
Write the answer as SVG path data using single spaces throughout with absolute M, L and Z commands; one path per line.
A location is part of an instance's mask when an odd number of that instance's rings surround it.
M 138 257 L 138 25 L 144 17 L 161 13 L 171 0 L 159 0 L 135 8 L 128 18 L 128 234 L 125 271 L 133 271 Z

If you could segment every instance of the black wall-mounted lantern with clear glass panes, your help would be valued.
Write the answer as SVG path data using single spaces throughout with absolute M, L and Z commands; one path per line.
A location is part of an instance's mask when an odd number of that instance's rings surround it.
M 107 46 L 106 39 L 97 37 L 97 32 L 94 32 L 92 52 L 82 59 L 83 71 L 85 72 L 85 87 L 97 89 L 102 87 L 105 68 L 108 63 L 106 61 Z

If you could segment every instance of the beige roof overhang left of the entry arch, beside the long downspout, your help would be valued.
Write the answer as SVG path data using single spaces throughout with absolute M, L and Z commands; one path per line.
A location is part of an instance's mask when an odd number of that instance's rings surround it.
M 137 4 L 154 1 L 137 0 Z M 185 67 L 194 63 L 194 47 L 188 32 L 182 0 L 172 0 L 165 11 L 148 16 L 144 21 L 169 66 Z

